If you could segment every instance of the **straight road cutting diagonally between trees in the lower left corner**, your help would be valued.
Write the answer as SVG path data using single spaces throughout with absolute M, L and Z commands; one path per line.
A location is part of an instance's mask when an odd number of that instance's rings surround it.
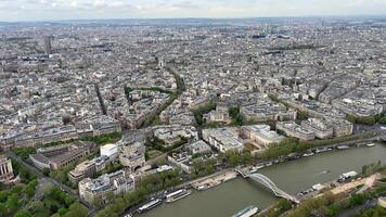
M 73 196 L 73 197 L 79 200 L 79 202 L 80 202 L 81 204 L 83 204 L 83 205 L 89 209 L 89 216 L 94 216 L 94 214 L 95 214 L 97 210 L 91 206 L 91 204 L 89 204 L 89 203 L 87 203 L 87 202 L 80 200 L 80 196 L 78 195 L 78 193 L 77 193 L 75 190 L 68 188 L 67 186 L 65 186 L 65 184 L 63 184 L 63 183 L 56 181 L 55 179 L 53 179 L 53 178 L 51 178 L 51 177 L 44 176 L 38 168 L 36 168 L 35 166 L 33 166 L 33 165 L 26 163 L 25 161 L 23 161 L 20 156 L 17 156 L 17 155 L 14 154 L 13 152 L 11 152 L 11 151 L 5 151 L 4 153 L 5 153 L 5 155 L 7 155 L 8 157 L 14 158 L 14 159 L 17 161 L 20 164 L 22 164 L 24 167 L 26 167 L 27 169 L 29 169 L 30 171 L 33 171 L 33 173 L 34 173 L 35 175 L 37 175 L 40 179 L 42 179 L 42 180 L 44 180 L 44 181 L 48 181 L 48 182 L 50 182 L 50 183 L 53 184 L 53 186 L 59 187 L 62 191 L 66 192 L 66 193 L 69 194 L 70 196 Z

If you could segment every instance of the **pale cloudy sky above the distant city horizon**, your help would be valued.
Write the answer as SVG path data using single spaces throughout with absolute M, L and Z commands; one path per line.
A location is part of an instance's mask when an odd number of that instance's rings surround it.
M 386 0 L 0 0 L 0 21 L 386 15 Z

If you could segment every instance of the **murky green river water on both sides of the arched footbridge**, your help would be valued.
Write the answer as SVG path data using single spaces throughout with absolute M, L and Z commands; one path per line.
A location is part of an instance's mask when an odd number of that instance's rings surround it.
M 311 188 L 337 179 L 342 174 L 361 171 L 365 164 L 382 161 L 386 163 L 386 146 L 350 148 L 303 157 L 297 161 L 276 164 L 258 173 L 269 177 L 280 189 L 288 193 Z M 140 217 L 229 217 L 248 205 L 263 209 L 278 199 L 258 183 L 236 178 L 203 192 L 194 192 L 171 204 L 153 208 Z

